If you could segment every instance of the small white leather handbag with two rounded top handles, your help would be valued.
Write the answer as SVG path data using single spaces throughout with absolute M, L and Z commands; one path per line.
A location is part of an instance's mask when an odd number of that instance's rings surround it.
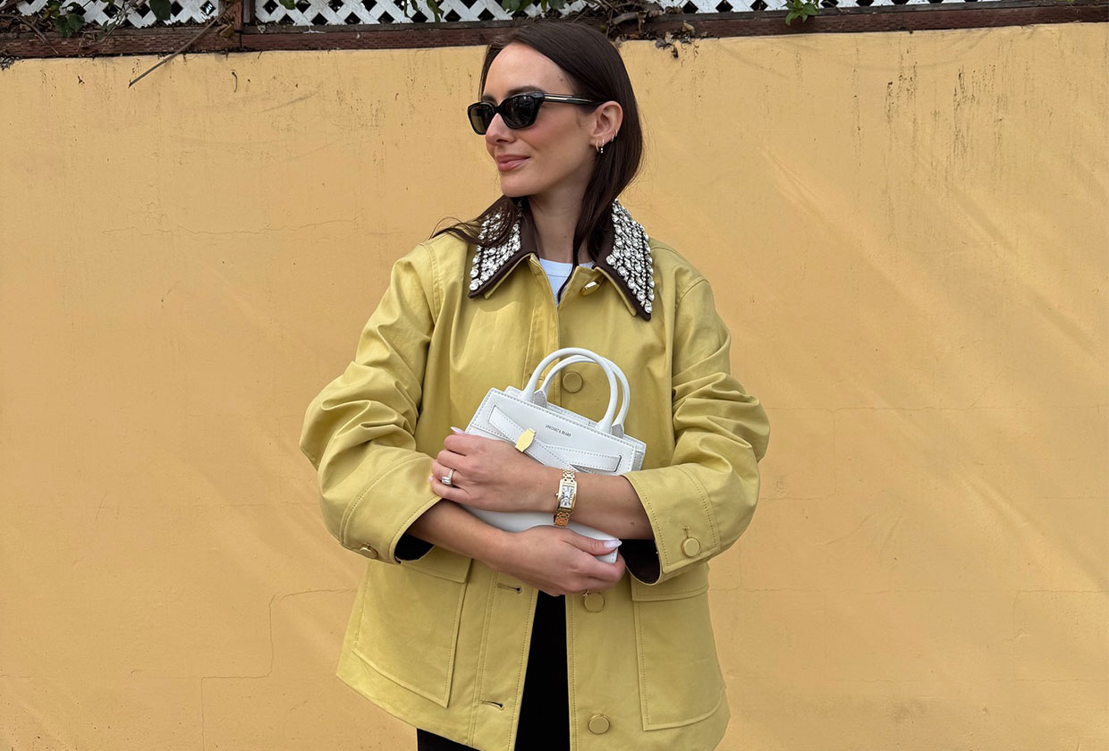
M 539 376 L 554 361 L 557 365 L 539 383 Z M 609 382 L 609 406 L 600 422 L 548 403 L 550 384 L 568 365 L 592 363 L 598 365 Z M 624 435 L 623 423 L 628 416 L 631 390 L 623 371 L 607 357 L 589 349 L 566 347 L 547 355 L 522 390 L 508 386 L 505 390 L 490 388 L 474 413 L 466 432 L 496 438 L 517 447 L 536 461 L 594 475 L 622 475 L 643 465 L 647 445 Z M 618 410 L 619 403 L 619 410 Z M 467 507 L 479 519 L 508 531 L 522 531 L 540 525 L 553 526 L 554 490 L 551 488 L 551 512 L 486 511 Z M 567 527 L 579 535 L 599 540 L 617 539 L 592 527 L 570 521 Z M 614 562 L 617 551 L 598 556 Z

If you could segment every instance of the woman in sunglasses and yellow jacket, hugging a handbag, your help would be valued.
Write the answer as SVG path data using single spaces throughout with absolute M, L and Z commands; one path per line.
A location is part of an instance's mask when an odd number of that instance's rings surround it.
M 468 110 L 503 196 L 393 268 L 355 361 L 308 408 L 302 447 L 328 529 L 372 559 L 338 674 L 416 725 L 420 749 L 712 749 L 728 703 L 708 560 L 746 527 L 767 426 L 729 375 L 730 336 L 688 262 L 617 195 L 642 151 L 603 35 L 541 22 L 492 44 Z M 491 387 L 549 352 L 592 349 L 631 382 L 643 469 L 563 483 L 464 435 Z M 564 369 L 552 402 L 597 417 L 608 382 Z M 554 514 L 511 534 L 464 507 Z

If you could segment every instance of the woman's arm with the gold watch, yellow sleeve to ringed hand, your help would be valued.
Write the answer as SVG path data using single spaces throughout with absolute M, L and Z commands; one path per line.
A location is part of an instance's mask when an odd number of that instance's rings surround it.
M 573 519 L 629 540 L 628 569 L 647 583 L 726 550 L 751 520 L 769 425 L 759 400 L 730 374 L 731 335 L 703 277 L 679 294 L 671 390 L 674 450 L 664 466 L 619 477 L 578 474 Z M 560 470 L 509 444 L 448 436 L 433 489 L 496 511 L 554 511 Z M 451 485 L 441 478 L 454 469 Z M 634 544 L 632 544 L 634 542 Z

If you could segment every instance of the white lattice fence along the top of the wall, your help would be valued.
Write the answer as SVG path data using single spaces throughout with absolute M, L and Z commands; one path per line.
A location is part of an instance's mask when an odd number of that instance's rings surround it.
M 72 1 L 72 0 L 69 0 Z M 426 0 L 413 0 L 414 6 L 405 6 L 405 0 L 296 0 L 292 9 L 278 0 L 247 0 L 255 3 L 255 18 L 260 23 L 291 26 L 349 26 L 357 23 L 421 23 L 434 20 Z M 726 13 L 756 10 L 784 10 L 785 0 L 655 0 L 662 8 L 680 8 L 685 13 Z M 878 6 L 927 6 L 965 4 L 978 0 L 818 0 L 824 8 L 855 8 Z M 996 0 L 980 0 L 993 2 Z M 35 13 L 47 6 L 48 0 L 24 0 L 16 9 L 24 14 Z M 67 6 L 69 2 L 65 3 Z M 125 20 L 123 27 L 142 28 L 157 22 L 146 0 L 135 4 L 123 0 L 112 4 L 104 0 L 79 2 L 84 8 L 84 19 L 89 23 L 114 22 L 120 13 Z M 584 0 L 576 0 L 566 12 L 580 10 Z M 210 20 L 223 6 L 223 0 L 172 0 L 167 23 L 204 22 Z M 495 21 L 512 18 L 500 7 L 498 0 L 440 0 L 439 8 L 444 21 Z M 539 8 L 532 6 L 523 11 L 536 16 Z

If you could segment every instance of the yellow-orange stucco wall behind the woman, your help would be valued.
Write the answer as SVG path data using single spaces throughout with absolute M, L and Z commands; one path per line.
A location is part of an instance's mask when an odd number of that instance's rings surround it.
M 774 426 L 722 748 L 1109 749 L 1109 26 L 623 47 Z M 296 447 L 496 179 L 481 50 L 0 71 L 0 748 L 413 748 Z

